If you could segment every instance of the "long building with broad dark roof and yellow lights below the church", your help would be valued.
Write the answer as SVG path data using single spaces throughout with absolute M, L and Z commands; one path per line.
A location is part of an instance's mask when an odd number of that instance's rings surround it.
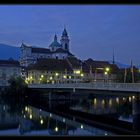
M 27 68 L 26 83 L 82 82 L 80 69 L 73 69 L 68 59 L 40 58 Z

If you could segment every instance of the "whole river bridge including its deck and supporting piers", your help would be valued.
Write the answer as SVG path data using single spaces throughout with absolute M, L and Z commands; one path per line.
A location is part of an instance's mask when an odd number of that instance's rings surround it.
M 29 89 L 49 91 L 83 91 L 84 93 L 103 92 L 113 95 L 125 95 L 134 97 L 132 103 L 133 127 L 140 132 L 140 83 L 58 83 L 58 84 L 29 84 Z M 105 94 L 104 94 L 105 95 Z M 135 95 L 135 96 L 134 96 Z M 49 104 L 51 104 L 51 92 L 49 92 Z

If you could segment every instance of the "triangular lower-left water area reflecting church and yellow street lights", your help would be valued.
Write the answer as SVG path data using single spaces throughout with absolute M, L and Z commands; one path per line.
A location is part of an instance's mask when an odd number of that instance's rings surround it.
M 27 103 L 13 101 L 0 100 L 0 135 L 113 135 Z

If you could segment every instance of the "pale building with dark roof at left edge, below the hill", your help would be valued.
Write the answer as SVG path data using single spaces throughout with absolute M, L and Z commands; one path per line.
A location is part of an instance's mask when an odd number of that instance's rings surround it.
M 20 63 L 13 59 L 0 60 L 0 86 L 8 86 L 11 76 L 20 76 Z

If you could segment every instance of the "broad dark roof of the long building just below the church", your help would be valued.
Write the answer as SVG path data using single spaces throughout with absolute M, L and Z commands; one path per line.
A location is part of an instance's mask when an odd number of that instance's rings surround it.
M 68 62 L 63 59 L 50 59 L 50 58 L 41 58 L 38 59 L 35 64 L 32 64 L 28 67 L 29 70 L 47 70 L 47 71 L 72 71 Z

